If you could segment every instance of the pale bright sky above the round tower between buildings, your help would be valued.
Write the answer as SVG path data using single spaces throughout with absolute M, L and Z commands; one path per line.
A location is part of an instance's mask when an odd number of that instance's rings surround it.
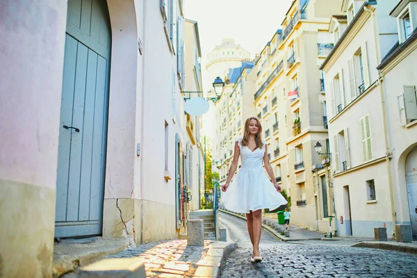
M 202 48 L 204 90 L 211 90 L 213 81 L 206 80 L 206 56 L 224 38 L 259 54 L 272 38 L 291 5 L 292 0 L 185 0 L 184 17 L 197 21 Z M 213 126 L 213 107 L 203 117 L 204 126 Z M 213 131 L 202 131 L 211 137 Z

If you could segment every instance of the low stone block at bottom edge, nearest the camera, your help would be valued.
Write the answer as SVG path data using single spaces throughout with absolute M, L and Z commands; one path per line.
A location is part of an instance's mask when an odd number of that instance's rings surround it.
M 80 278 L 145 278 L 145 261 L 139 258 L 104 259 L 79 270 Z

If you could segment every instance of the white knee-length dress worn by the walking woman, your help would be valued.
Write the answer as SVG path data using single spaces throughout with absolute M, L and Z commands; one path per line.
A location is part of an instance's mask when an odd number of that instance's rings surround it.
M 261 149 L 255 149 L 254 152 L 247 146 L 242 146 L 241 138 L 236 142 L 240 148 L 242 166 L 226 192 L 222 192 L 221 200 L 224 207 L 237 213 L 250 213 L 261 208 L 273 210 L 287 204 L 286 199 L 277 192 L 263 170 L 265 142 Z

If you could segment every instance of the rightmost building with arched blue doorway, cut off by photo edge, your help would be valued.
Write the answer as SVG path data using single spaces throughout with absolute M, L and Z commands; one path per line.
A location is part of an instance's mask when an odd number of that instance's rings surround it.
M 392 3 L 394 6 L 396 3 Z M 417 1 L 398 1 L 390 13 L 398 42 L 378 65 L 384 93 L 397 224 L 411 225 L 417 238 Z

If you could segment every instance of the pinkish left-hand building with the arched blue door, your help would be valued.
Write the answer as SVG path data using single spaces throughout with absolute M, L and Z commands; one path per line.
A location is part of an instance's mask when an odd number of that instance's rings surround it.
M 54 237 L 135 245 L 185 231 L 201 151 L 199 121 L 181 110 L 182 11 L 174 0 L 2 6 L 3 276 L 51 277 Z

